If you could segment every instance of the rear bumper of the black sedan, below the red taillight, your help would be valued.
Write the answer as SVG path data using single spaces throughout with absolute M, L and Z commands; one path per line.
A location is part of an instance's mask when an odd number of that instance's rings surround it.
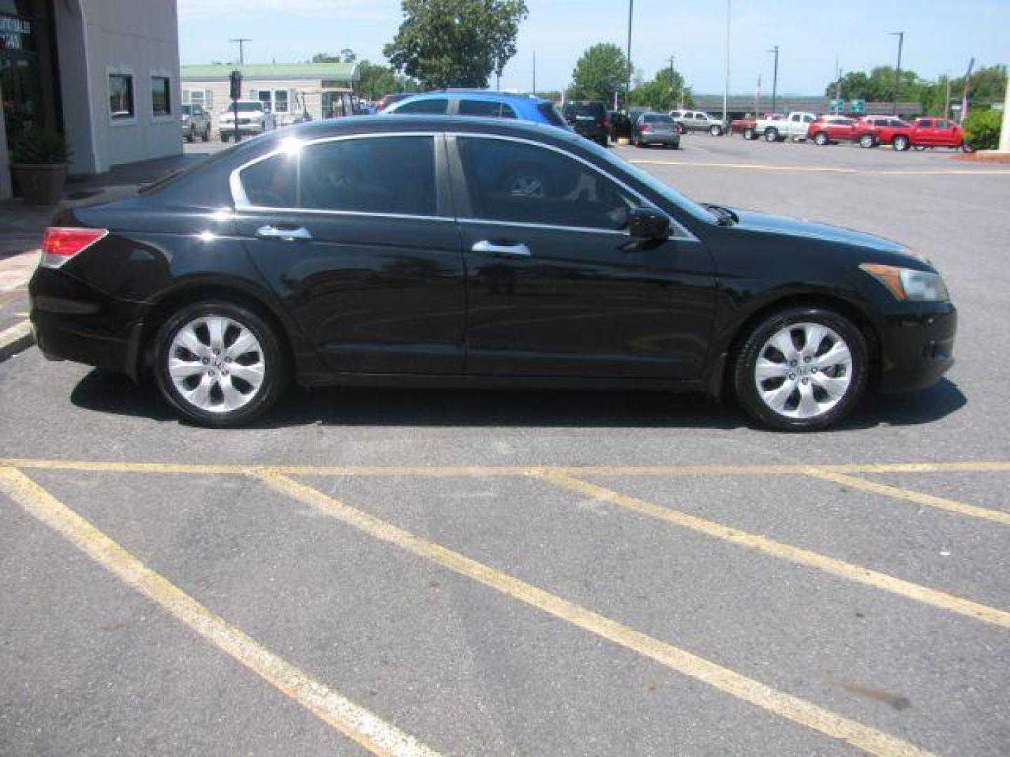
M 136 377 L 141 306 L 113 300 L 49 268 L 35 272 L 28 292 L 32 332 L 45 357 Z

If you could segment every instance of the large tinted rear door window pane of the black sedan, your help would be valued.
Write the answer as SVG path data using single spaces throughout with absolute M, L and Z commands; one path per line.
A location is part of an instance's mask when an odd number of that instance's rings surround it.
M 430 136 L 342 139 L 301 151 L 301 207 L 390 215 L 436 212 Z

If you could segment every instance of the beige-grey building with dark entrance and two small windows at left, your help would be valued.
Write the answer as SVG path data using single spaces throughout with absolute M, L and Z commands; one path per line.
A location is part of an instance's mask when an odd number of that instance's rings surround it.
M 176 0 L 0 0 L 0 92 L 4 146 L 63 131 L 72 175 L 181 152 Z

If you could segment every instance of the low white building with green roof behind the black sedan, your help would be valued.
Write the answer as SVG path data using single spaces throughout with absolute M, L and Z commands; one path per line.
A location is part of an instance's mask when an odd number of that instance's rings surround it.
M 216 125 L 231 102 L 228 76 L 235 70 L 242 74 L 242 97 L 266 103 L 282 123 L 304 113 L 313 120 L 349 115 L 343 109 L 359 81 L 352 63 L 183 66 L 182 102 L 202 105 Z

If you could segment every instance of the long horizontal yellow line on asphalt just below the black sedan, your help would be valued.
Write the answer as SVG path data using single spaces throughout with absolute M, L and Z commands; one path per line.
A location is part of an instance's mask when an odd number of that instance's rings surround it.
M 898 462 L 810 465 L 256 465 L 185 462 L 114 462 L 100 460 L 39 460 L 0 458 L 0 465 L 43 470 L 97 473 L 202 473 L 239 475 L 250 470 L 273 470 L 285 475 L 525 475 L 553 470 L 568 475 L 805 475 L 811 469 L 836 473 L 1010 472 L 1010 462 Z

